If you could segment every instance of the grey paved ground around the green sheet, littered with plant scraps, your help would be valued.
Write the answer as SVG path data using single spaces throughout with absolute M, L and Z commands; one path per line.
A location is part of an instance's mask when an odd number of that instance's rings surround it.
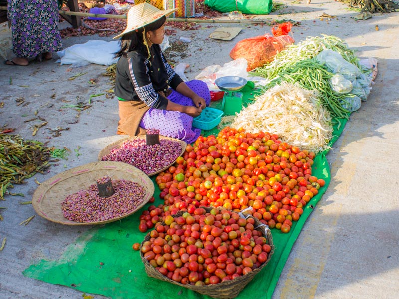
M 283 19 L 299 23 L 292 28 L 297 42 L 320 34 L 340 37 L 359 57 L 378 59 L 379 74 L 368 101 L 351 115 L 328 154 L 332 181 L 297 239 L 273 298 L 397 298 L 398 13 L 355 20 L 359 12 L 342 2 L 282 3 L 283 8 L 270 15 L 254 17 L 268 23 Z M 221 26 L 242 27 L 242 31 L 231 41 L 208 37 Z M 201 23 L 197 30 L 176 30 L 169 36 L 168 53 L 175 63 L 189 64 L 186 76 L 194 79 L 209 65 L 231 61 L 229 52 L 238 41 L 271 33 L 270 29 L 269 25 Z M 178 45 L 180 37 L 191 42 Z M 110 41 L 111 37 L 71 37 L 63 45 L 67 48 L 93 39 Z M 57 259 L 89 227 L 49 222 L 36 215 L 31 205 L 20 202 L 31 200 L 37 187 L 34 179 L 43 182 L 66 169 L 94 162 L 101 149 L 120 138 L 116 135 L 118 103 L 110 92 L 112 82 L 103 75 L 106 66 L 71 68 L 56 63 L 56 58 L 32 61 L 27 67 L 0 65 L 0 103 L 4 103 L 0 127 L 14 128 L 25 139 L 71 150 L 67 160 L 56 162 L 48 173 L 15 186 L 13 192 L 24 197 L 6 196 L 0 202 L 6 208 L 1 210 L 0 239 L 7 238 L 0 252 L 0 298 L 82 298 L 79 291 L 26 278 L 22 271 L 41 259 Z M 90 100 L 91 95 L 102 93 Z M 73 105 L 87 109 L 68 107 Z M 47 124 L 32 136 L 34 126 L 42 122 Z M 33 215 L 27 226 L 19 225 Z

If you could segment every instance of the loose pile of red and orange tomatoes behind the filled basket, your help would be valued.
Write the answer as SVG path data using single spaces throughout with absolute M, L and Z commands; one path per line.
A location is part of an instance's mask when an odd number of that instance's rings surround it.
M 194 207 L 248 210 L 253 217 L 288 233 L 304 206 L 325 185 L 312 176 L 315 153 L 281 142 L 268 132 L 226 127 L 200 136 L 182 157 L 156 177 L 164 205 L 140 216 L 142 232 L 166 216 Z

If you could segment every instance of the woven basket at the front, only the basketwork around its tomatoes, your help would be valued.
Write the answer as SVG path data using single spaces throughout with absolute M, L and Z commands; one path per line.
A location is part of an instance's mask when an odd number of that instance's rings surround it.
M 210 212 L 212 208 L 204 208 L 206 212 Z M 182 216 L 183 211 L 178 212 L 176 215 L 173 215 L 174 218 Z M 242 213 L 246 217 L 252 217 L 251 215 L 248 215 L 246 213 Z M 254 218 L 255 224 L 254 227 L 258 227 L 256 230 L 261 231 L 262 235 L 267 239 L 267 244 L 271 246 L 271 251 L 268 254 L 267 261 L 264 262 L 259 268 L 254 269 L 253 271 L 237 277 L 233 280 L 229 281 L 224 281 L 220 282 L 215 285 L 205 285 L 205 286 L 193 286 L 193 285 L 184 285 L 181 283 L 178 283 L 174 280 L 169 279 L 168 277 L 164 276 L 161 274 L 159 271 L 157 271 L 153 266 L 150 265 L 150 263 L 144 258 L 143 253 L 141 251 L 141 247 L 143 246 L 143 243 L 145 241 L 150 240 L 150 233 L 146 235 L 144 238 L 143 242 L 140 245 L 140 257 L 142 262 L 144 263 L 144 269 L 149 277 L 157 278 L 163 281 L 170 282 L 174 285 L 178 285 L 183 288 L 187 288 L 193 291 L 196 291 L 200 294 L 207 295 L 213 298 L 219 298 L 219 299 L 231 299 L 235 298 L 238 296 L 238 294 L 245 288 L 245 286 L 255 277 L 256 274 L 258 274 L 270 261 L 271 256 L 274 253 L 274 245 L 273 245 L 273 237 L 271 235 L 270 229 L 265 229 L 265 226 L 257 219 Z M 164 222 L 162 222 L 162 225 L 165 225 Z

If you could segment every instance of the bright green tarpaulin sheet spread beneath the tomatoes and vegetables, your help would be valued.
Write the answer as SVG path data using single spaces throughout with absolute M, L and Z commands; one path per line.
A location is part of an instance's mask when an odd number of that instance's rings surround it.
M 247 104 L 256 92 L 244 89 L 244 102 Z M 220 105 L 221 101 L 212 103 Z M 334 128 L 332 145 L 345 127 L 345 119 Z M 218 132 L 203 132 L 204 135 Z M 327 152 L 318 154 L 312 167 L 312 174 L 323 178 L 326 185 L 306 205 L 299 221 L 294 222 L 291 231 L 283 234 L 272 229 L 274 254 L 268 265 L 241 291 L 237 298 L 271 298 L 281 271 L 301 229 L 326 191 L 330 182 L 330 168 L 325 157 Z M 155 204 L 162 203 L 156 184 Z M 149 205 L 149 204 L 148 204 Z M 82 292 L 101 294 L 114 299 L 199 299 L 210 298 L 186 288 L 168 282 L 149 278 L 140 259 L 140 253 L 132 249 L 133 243 L 144 239 L 145 233 L 138 230 L 139 216 L 144 209 L 120 221 L 95 227 L 83 233 L 72 245 L 69 245 L 58 260 L 42 260 L 31 265 L 23 274 L 51 284 L 68 286 Z

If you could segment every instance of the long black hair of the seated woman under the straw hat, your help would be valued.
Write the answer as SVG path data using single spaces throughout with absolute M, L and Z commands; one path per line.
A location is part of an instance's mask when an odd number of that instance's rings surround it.
M 163 16 L 158 20 L 145 25 L 139 29 L 133 30 L 129 33 L 123 34 L 121 39 L 119 40 L 119 44 L 121 49 L 118 52 L 115 52 L 115 58 L 119 58 L 122 55 L 126 56 L 127 52 L 136 50 L 139 46 L 145 46 L 143 40 L 143 31 L 154 31 L 162 27 L 162 25 L 166 22 L 166 17 Z

